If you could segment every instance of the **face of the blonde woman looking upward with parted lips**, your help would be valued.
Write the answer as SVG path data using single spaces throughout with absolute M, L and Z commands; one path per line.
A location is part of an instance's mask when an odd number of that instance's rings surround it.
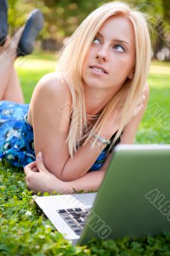
M 118 91 L 127 77 L 132 79 L 135 35 L 130 20 L 110 17 L 99 29 L 82 67 L 84 85 Z

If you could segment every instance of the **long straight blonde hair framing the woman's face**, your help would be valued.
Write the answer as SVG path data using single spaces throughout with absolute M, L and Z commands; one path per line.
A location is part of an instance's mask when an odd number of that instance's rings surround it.
M 109 115 L 114 108 L 120 108 L 120 127 L 113 143 L 118 139 L 126 125 L 126 121 L 132 115 L 141 95 L 148 76 L 151 61 L 151 42 L 148 26 L 144 14 L 139 10 L 132 10 L 128 4 L 111 2 L 94 10 L 86 17 L 81 25 L 68 39 L 61 49 L 56 70 L 64 77 L 72 93 L 72 120 L 68 133 L 68 150 L 70 156 L 77 150 L 77 145 L 88 131 L 86 123 L 86 111 L 83 95 L 82 65 L 89 47 L 102 24 L 109 17 L 116 15 L 127 17 L 133 24 L 135 33 L 135 72 L 133 79 L 127 79 L 116 95 L 107 102 L 97 120 L 98 134 L 101 134 Z M 96 125 L 86 134 L 86 141 L 91 138 Z

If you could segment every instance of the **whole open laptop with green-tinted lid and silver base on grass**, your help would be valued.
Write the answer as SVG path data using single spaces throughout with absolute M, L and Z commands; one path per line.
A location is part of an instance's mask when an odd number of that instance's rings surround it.
M 72 244 L 170 231 L 170 145 L 118 145 L 98 193 L 35 196 Z

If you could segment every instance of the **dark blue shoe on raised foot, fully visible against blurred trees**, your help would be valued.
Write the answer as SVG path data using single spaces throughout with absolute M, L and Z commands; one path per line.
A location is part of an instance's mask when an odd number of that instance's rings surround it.
M 34 48 L 36 36 L 43 28 L 43 15 L 38 9 L 31 12 L 19 41 L 17 56 L 31 54 Z

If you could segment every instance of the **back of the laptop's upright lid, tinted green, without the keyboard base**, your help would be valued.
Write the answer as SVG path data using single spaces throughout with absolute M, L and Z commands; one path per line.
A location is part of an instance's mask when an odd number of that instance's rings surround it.
M 118 145 L 79 244 L 170 231 L 170 145 Z

